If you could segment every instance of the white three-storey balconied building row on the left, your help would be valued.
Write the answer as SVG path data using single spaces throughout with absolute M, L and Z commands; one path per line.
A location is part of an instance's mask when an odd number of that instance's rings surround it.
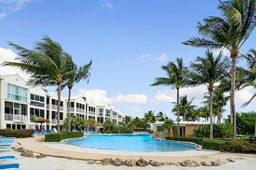
M 68 116 L 68 98 L 60 99 L 60 127 Z M 50 122 L 42 123 L 47 131 L 57 127 L 58 95 L 55 92 L 36 87 L 30 88 L 18 74 L 0 76 L 0 129 L 34 129 L 37 123 L 30 121 L 30 115 L 44 117 Z M 80 119 L 94 119 L 99 122 L 98 130 L 110 119 L 115 125 L 125 123 L 125 115 L 109 104 L 86 102 L 85 97 L 70 98 L 70 114 Z

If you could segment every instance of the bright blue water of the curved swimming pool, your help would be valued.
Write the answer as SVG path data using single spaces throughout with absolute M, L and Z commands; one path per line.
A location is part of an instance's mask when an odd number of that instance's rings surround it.
M 68 145 L 90 149 L 138 151 L 138 152 L 172 152 L 194 150 L 195 145 L 154 140 L 152 135 L 88 135 L 85 139 L 69 140 Z

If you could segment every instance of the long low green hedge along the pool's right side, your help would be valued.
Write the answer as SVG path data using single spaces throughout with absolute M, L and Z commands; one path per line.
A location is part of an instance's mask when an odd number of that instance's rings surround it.
M 240 137 L 236 141 L 226 139 L 209 139 L 196 137 L 166 137 L 166 140 L 192 142 L 202 145 L 202 149 L 219 150 L 231 153 L 256 153 L 256 144 L 249 143 L 248 137 Z

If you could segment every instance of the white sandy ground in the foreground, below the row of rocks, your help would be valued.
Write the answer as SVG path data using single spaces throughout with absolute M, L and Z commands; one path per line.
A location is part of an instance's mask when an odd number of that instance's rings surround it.
M 14 144 L 15 145 L 15 144 Z M 8 148 L 0 149 L 0 156 L 16 156 L 16 163 L 20 164 L 20 170 L 255 170 L 256 169 L 256 157 L 244 157 L 236 159 L 235 162 L 229 162 L 221 166 L 196 166 L 196 167 L 183 167 L 183 166 L 159 166 L 154 167 L 150 164 L 146 167 L 126 165 L 102 165 L 102 164 L 88 164 L 85 160 L 71 160 L 66 158 L 57 158 L 46 156 L 46 158 L 29 158 L 20 156 L 20 152 L 10 150 Z M 12 163 L 10 160 L 3 160 L 0 164 Z

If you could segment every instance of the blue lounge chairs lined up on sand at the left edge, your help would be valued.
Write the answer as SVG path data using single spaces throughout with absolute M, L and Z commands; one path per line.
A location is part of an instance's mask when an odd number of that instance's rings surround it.
M 11 150 L 11 144 L 16 137 L 4 137 L 0 135 L 0 148 L 9 148 Z M 12 161 L 10 164 L 8 161 Z M 19 169 L 20 164 L 15 161 L 15 156 L 0 156 L 0 170 Z

